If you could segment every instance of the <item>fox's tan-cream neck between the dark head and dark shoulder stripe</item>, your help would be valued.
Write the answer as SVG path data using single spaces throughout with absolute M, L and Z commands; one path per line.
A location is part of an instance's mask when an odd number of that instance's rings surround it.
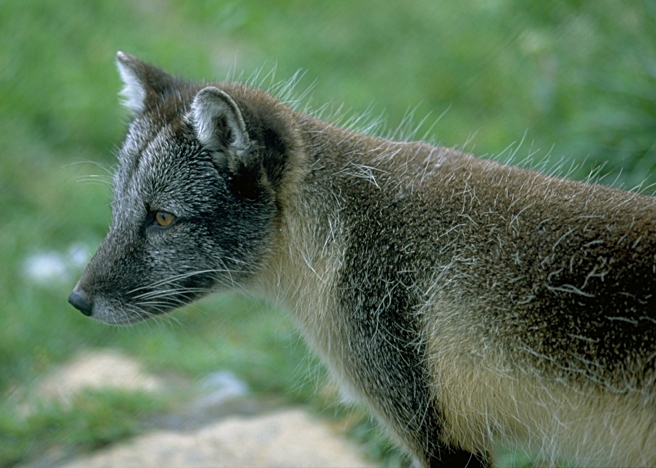
M 272 247 L 253 289 L 289 310 L 310 346 L 332 367 L 329 355 L 340 345 L 335 287 L 348 234 L 340 215 L 338 171 L 361 163 L 365 150 L 358 140 L 345 144 L 355 135 L 327 123 L 309 119 L 300 125 L 302 152 L 287 169 Z

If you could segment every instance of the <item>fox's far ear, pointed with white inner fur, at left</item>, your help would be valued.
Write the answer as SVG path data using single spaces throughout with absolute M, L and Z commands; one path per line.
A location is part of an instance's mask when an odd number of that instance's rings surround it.
M 178 80 L 138 58 L 118 52 L 116 65 L 123 79 L 121 90 L 123 105 L 134 114 L 144 112 L 149 106 L 159 102 L 178 84 Z

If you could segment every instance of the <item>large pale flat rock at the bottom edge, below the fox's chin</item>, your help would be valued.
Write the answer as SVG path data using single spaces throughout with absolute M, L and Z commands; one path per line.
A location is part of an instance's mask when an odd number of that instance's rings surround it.
M 365 467 L 357 448 L 293 409 L 230 417 L 192 432 L 156 431 L 60 468 Z

